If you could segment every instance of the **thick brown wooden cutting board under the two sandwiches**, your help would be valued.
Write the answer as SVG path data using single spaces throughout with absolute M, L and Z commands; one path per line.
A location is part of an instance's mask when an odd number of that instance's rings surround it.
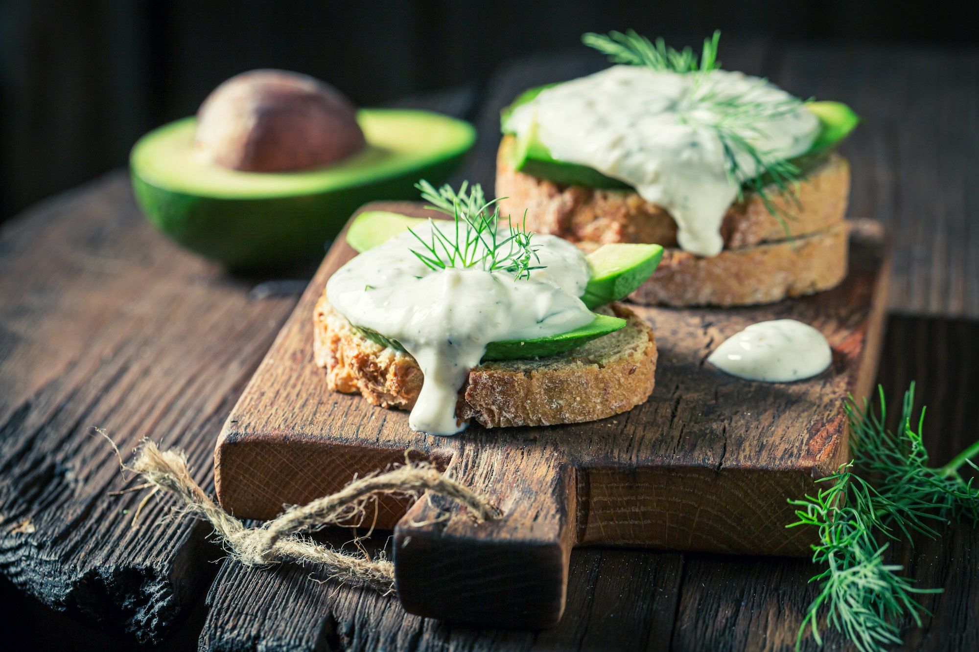
M 365 209 L 418 207 L 377 203 Z M 739 310 L 633 306 L 658 334 L 660 363 L 653 396 L 626 414 L 560 428 L 473 427 L 456 438 L 412 433 L 406 413 L 380 410 L 326 387 L 325 374 L 312 363 L 311 314 L 326 279 L 354 255 L 338 240 L 221 434 L 215 453 L 218 497 L 241 517 L 270 518 L 284 503 L 339 489 L 354 475 L 384 468 L 410 449 L 453 458 L 451 475 L 477 484 L 501 504 L 517 504 L 515 495 L 525 482 L 538 483 L 540 495 L 549 495 L 543 483 L 554 469 L 577 469 L 577 490 L 566 493 L 571 502 L 564 511 L 577 512 L 580 543 L 806 554 L 805 538 L 772 523 L 791 516 L 785 496 L 802 495 L 813 477 L 835 470 L 846 453 L 841 400 L 848 392 L 862 396 L 876 368 L 882 303 L 873 298 L 886 280 L 886 273 L 879 273 L 880 237 L 872 227 L 858 228 L 850 276 L 839 288 L 814 297 Z M 703 360 L 724 338 L 750 323 L 784 317 L 813 323 L 826 334 L 836 351 L 832 373 L 769 385 L 704 368 Z M 536 473 L 529 452 L 535 449 L 551 451 L 543 457 L 557 460 L 552 472 Z M 487 459 L 458 461 L 475 455 L 473 450 L 488 451 Z M 494 455 L 525 453 L 528 468 L 513 478 L 489 473 L 513 466 Z M 490 478 L 485 487 L 484 473 Z M 529 499 L 519 502 L 529 504 Z M 392 528 L 400 519 L 395 507 L 382 505 L 379 527 Z M 551 510 L 528 513 L 539 517 Z M 398 528 L 413 546 L 436 532 L 470 542 L 481 537 L 477 533 L 507 532 L 505 527 L 497 532 L 497 524 L 469 533 L 462 515 L 458 527 L 453 520 L 433 532 L 404 525 L 434 517 L 414 514 Z M 542 522 L 528 523 L 536 531 Z M 398 550 L 402 559 L 412 552 Z M 408 604 L 420 608 L 410 597 Z M 461 615 L 458 609 L 453 613 Z

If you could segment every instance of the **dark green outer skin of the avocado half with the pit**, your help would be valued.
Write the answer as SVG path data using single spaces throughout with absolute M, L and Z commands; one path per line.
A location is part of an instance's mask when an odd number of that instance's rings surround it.
M 217 198 L 161 188 L 130 168 L 147 218 L 187 249 L 236 272 L 270 272 L 322 259 L 350 214 L 379 199 L 415 199 L 419 178 L 440 183 L 465 152 L 361 186 L 269 198 Z

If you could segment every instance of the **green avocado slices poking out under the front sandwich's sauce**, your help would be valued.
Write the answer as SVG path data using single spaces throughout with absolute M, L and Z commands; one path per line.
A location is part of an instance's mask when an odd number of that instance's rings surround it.
M 421 217 L 408 217 L 385 210 L 368 210 L 356 216 L 347 231 L 347 242 L 357 253 L 383 245 L 398 233 L 425 223 Z M 609 244 L 584 256 L 591 268 L 582 295 L 588 308 L 625 299 L 649 278 L 663 256 L 659 245 Z M 557 355 L 581 347 L 586 342 L 608 335 L 626 325 L 625 319 L 595 313 L 591 323 L 558 335 L 535 340 L 491 342 L 484 360 L 513 360 Z M 369 340 L 381 346 L 404 350 L 401 345 L 377 331 L 356 327 Z

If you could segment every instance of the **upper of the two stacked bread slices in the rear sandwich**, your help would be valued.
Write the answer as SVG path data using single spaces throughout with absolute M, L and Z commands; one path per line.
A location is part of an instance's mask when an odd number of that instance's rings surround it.
M 500 201 L 502 214 L 522 217 L 526 210 L 529 229 L 572 242 L 676 247 L 676 222 L 666 210 L 631 190 L 563 186 L 519 172 L 511 163 L 515 142 L 513 136 L 504 136 L 496 158 L 496 197 L 506 198 Z M 849 194 L 850 165 L 832 153 L 799 182 L 798 206 L 771 189 L 776 212 L 791 215 L 784 224 L 752 193 L 732 204 L 721 228 L 724 249 L 785 240 L 786 230 L 793 237 L 823 231 L 843 220 Z

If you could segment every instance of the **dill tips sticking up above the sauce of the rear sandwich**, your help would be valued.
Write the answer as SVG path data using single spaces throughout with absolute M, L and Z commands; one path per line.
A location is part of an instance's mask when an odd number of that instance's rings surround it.
M 588 32 L 582 36 L 582 42 L 589 48 L 594 48 L 615 64 L 629 66 L 645 66 L 653 70 L 668 70 L 671 72 L 693 72 L 716 70 L 721 67 L 718 61 L 718 42 L 721 40 L 721 30 L 714 32 L 711 38 L 704 39 L 704 47 L 700 59 L 693 49 L 686 47 L 676 50 L 662 38 L 653 43 L 645 36 L 640 36 L 633 29 L 610 31 L 608 34 Z

